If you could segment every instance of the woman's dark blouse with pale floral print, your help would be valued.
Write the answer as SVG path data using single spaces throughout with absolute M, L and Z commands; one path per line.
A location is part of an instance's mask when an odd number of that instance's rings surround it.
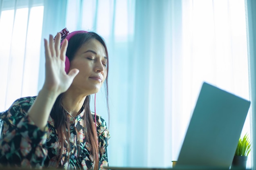
M 58 162 L 58 135 L 54 120 L 49 117 L 44 130 L 40 130 L 27 116 L 27 111 L 36 97 L 17 99 L 5 112 L 0 113 L 2 130 L 0 136 L 0 164 L 2 166 L 22 167 L 63 167 L 64 169 L 93 169 L 90 144 L 83 132 L 84 110 L 70 119 L 70 152 L 64 148 Z M 94 114 L 92 114 L 94 117 Z M 78 134 L 76 134 L 76 130 Z M 110 134 L 106 121 L 97 115 L 97 134 L 99 146 L 99 169 L 108 166 L 107 146 Z M 80 143 L 77 142 L 77 138 Z M 79 149 L 78 149 L 79 148 Z M 69 155 L 69 161 L 65 157 Z

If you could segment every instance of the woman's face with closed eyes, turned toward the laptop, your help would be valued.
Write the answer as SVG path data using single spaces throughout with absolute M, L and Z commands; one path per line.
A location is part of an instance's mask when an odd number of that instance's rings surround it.
M 79 93 L 97 93 L 107 76 L 107 55 L 104 46 L 95 39 L 83 44 L 70 63 L 70 70 L 79 69 L 70 88 Z

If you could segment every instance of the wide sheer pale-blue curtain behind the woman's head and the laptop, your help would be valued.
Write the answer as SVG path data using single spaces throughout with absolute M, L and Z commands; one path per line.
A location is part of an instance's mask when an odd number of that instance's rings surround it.
M 110 165 L 171 166 L 203 81 L 249 99 L 243 0 L 68 2 L 67 28 L 108 44 Z

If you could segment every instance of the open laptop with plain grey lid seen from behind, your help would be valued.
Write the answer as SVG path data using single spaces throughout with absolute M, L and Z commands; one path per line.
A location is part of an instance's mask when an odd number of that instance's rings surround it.
M 204 82 L 173 169 L 229 169 L 250 102 Z M 171 168 L 106 167 L 110 170 Z

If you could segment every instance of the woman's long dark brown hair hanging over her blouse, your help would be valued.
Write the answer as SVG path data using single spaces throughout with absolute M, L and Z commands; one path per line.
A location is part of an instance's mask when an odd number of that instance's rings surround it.
M 105 85 L 108 120 L 109 120 L 110 119 L 109 106 L 108 106 L 108 68 L 109 68 L 108 62 L 109 61 L 108 61 L 108 50 L 107 50 L 106 43 L 104 42 L 103 38 L 101 38 L 101 36 L 99 36 L 97 33 L 94 33 L 94 32 L 78 33 L 78 34 L 72 36 L 72 38 L 70 38 L 70 40 L 68 42 L 68 46 L 67 46 L 66 55 L 69 58 L 70 62 L 72 62 L 72 60 L 76 54 L 76 51 L 78 51 L 83 44 L 89 42 L 92 39 L 98 40 L 104 46 L 105 51 L 106 51 L 107 76 L 106 76 L 104 85 Z M 59 150 L 58 150 L 58 155 L 59 155 L 58 160 L 59 161 L 61 160 L 64 146 L 66 146 L 67 152 L 70 152 L 70 143 L 69 143 L 70 124 L 67 119 L 67 114 L 64 114 L 65 110 L 62 105 L 62 98 L 63 98 L 63 93 L 57 97 L 56 102 L 51 111 L 51 117 L 54 119 L 54 126 L 58 132 L 59 145 L 61 146 L 60 148 L 58 147 L 59 148 Z M 94 126 L 94 121 L 92 119 L 91 110 L 90 110 L 90 95 L 85 97 L 83 106 L 85 109 L 85 114 L 83 116 L 83 123 L 84 123 L 84 128 L 85 128 L 84 129 L 85 139 L 88 140 L 88 143 L 91 146 L 90 152 L 94 158 L 94 170 L 98 170 L 99 169 L 99 148 L 98 148 L 98 144 L 97 144 L 98 143 L 97 132 L 96 132 L 96 129 Z M 66 131 L 66 130 L 68 130 L 68 131 Z M 79 139 L 79 138 L 77 138 L 77 139 Z M 67 144 L 65 144 L 65 140 L 67 140 Z M 78 140 L 78 142 L 79 142 L 79 140 Z M 67 158 L 65 158 L 65 160 L 69 160 L 69 155 Z

